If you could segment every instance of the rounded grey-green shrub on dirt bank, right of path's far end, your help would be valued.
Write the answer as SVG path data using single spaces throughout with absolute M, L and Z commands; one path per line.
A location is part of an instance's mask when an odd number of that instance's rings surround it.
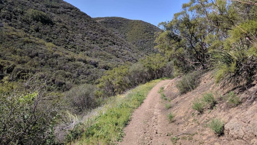
M 193 91 L 200 83 L 200 73 L 194 71 L 193 73 L 188 73 L 181 77 L 181 79 L 176 83 L 181 94 L 185 94 L 189 91 Z

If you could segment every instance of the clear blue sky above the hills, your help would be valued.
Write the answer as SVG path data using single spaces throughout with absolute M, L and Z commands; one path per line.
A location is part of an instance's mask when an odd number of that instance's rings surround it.
M 153 25 L 171 20 L 189 0 L 64 0 L 90 17 L 123 17 Z

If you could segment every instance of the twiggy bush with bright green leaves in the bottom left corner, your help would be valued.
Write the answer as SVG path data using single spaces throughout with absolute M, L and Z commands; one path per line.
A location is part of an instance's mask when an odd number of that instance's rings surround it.
M 0 93 L 1 144 L 54 142 L 52 125 L 64 106 L 58 93 L 49 93 L 51 89 L 51 80 L 31 76 Z

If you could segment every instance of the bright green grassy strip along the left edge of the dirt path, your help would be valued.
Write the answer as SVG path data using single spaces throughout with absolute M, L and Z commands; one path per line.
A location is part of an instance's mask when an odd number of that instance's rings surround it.
M 134 109 L 140 106 L 148 92 L 161 79 L 140 85 L 124 95 L 111 98 L 96 115 L 87 120 L 80 130 L 81 137 L 70 144 L 112 144 L 122 139 L 123 129 L 127 125 Z M 88 125 L 90 122 L 90 125 Z

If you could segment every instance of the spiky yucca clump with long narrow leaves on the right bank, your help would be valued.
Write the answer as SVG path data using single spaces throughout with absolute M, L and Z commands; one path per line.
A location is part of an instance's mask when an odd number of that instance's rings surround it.
M 216 83 L 222 87 L 228 84 L 250 83 L 257 70 L 256 47 L 246 48 L 242 45 L 230 51 L 213 50 L 209 52 L 210 62 L 216 70 Z

